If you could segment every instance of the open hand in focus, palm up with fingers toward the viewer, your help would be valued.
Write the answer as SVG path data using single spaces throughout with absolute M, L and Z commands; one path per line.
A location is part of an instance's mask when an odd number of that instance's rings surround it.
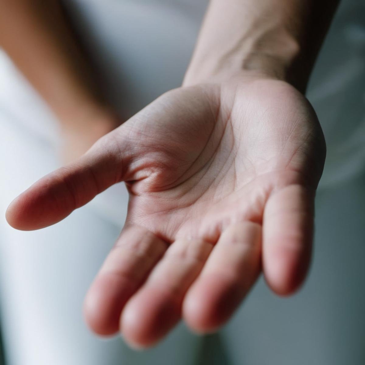
M 288 295 L 310 260 L 325 146 L 308 101 L 283 81 L 242 76 L 170 91 L 43 177 L 9 206 L 32 230 L 118 181 L 126 224 L 85 300 L 99 334 L 149 346 L 181 316 L 216 330 L 254 284 Z

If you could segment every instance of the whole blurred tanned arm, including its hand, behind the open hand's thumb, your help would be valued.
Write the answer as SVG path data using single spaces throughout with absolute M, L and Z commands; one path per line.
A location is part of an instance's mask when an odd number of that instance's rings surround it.
M 58 0 L 1 0 L 0 47 L 53 111 L 68 163 L 119 126 L 99 74 L 78 42 Z

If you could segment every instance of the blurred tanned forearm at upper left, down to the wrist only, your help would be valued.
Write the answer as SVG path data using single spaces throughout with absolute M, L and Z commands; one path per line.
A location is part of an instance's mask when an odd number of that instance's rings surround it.
M 104 101 L 59 1 L 1 0 L 0 46 L 66 127 L 101 118 Z

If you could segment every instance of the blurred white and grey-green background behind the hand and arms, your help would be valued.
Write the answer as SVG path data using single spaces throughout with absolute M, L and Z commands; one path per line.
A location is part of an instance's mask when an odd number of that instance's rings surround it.
M 137 112 L 181 84 L 206 5 L 65 1 L 120 113 Z M 181 324 L 154 349 L 135 353 L 120 338 L 96 338 L 81 316 L 85 292 L 126 215 L 123 185 L 40 231 L 15 231 L 3 218 L 15 196 L 59 166 L 59 134 L 54 115 L 0 50 L 3 363 L 365 364 L 364 60 L 365 3 L 343 0 L 307 94 L 324 130 L 327 160 L 303 289 L 281 299 L 261 279 L 218 334 L 197 337 Z

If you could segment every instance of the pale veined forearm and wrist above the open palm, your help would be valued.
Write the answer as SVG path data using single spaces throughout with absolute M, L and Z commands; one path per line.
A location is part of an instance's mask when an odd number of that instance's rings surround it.
M 184 85 L 238 73 L 304 92 L 338 0 L 211 0 Z

